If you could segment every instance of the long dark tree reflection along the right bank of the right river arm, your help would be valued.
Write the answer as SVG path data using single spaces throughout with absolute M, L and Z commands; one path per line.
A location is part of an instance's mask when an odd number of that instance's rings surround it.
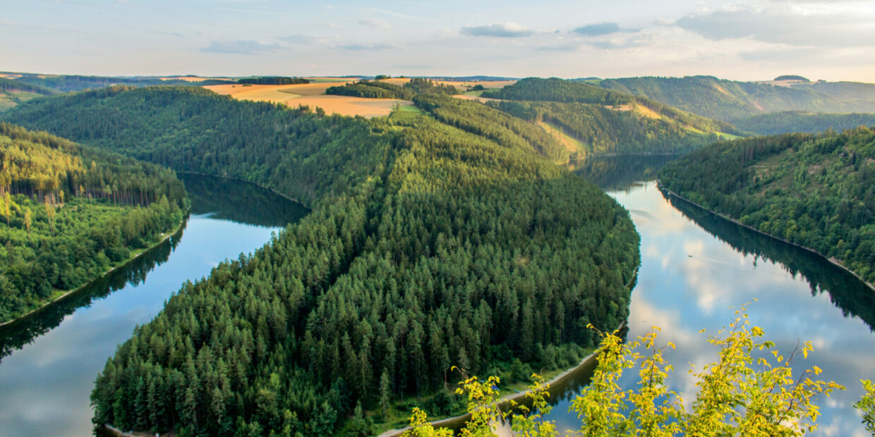
M 705 232 L 742 254 L 752 255 L 754 263 L 774 261 L 794 277 L 802 274 L 802 278 L 809 282 L 811 295 L 826 292 L 830 302 L 841 309 L 845 317 L 859 317 L 869 329 L 875 330 L 875 291 L 853 274 L 816 253 L 736 225 L 665 192 L 662 194 L 684 217 L 690 218 Z

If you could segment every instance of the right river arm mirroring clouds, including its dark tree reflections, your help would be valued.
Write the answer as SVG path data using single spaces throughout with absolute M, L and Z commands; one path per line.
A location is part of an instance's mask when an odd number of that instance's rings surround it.
M 788 355 L 799 342 L 814 343 L 809 359 L 800 357 L 795 363 L 796 374 L 817 365 L 823 369 L 821 378 L 848 387 L 819 399 L 823 416 L 815 435 L 868 435 L 852 404 L 863 393 L 860 379 L 875 378 L 875 292 L 812 253 L 669 201 L 656 188 L 653 169 L 641 165 L 660 166 L 661 161 L 614 158 L 598 164 L 625 178 L 620 184 L 596 170 L 582 172 L 601 176 L 593 180 L 608 187 L 631 212 L 641 233 L 641 270 L 632 293 L 628 337 L 661 327 L 660 342 L 677 345 L 677 350 L 666 351 L 676 368 L 669 384 L 684 399 L 693 399 L 696 381 L 687 373 L 690 364 L 701 369 L 716 360 L 708 334 L 698 331 L 716 333 L 732 322 L 731 307 L 756 299 L 748 311 L 751 322 L 765 330 L 778 350 Z M 641 169 L 637 178 L 628 174 L 634 168 Z M 625 378 L 625 384 L 631 388 L 634 378 Z M 578 384 L 554 396 L 557 403 L 549 419 L 560 430 L 579 427 L 577 415 L 568 413 L 570 398 L 579 389 Z

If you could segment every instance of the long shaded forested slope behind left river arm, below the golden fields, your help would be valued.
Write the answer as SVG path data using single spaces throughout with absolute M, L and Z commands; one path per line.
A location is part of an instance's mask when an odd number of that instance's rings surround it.
M 305 205 L 381 175 L 386 140 L 343 117 L 242 105 L 200 87 L 108 87 L 24 104 L 7 120 L 174 170 L 269 186 Z

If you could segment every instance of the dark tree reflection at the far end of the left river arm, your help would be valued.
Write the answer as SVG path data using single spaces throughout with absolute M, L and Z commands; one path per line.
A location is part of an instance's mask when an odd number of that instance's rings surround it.
M 309 210 L 255 184 L 179 173 L 186 184 L 193 214 L 212 212 L 213 218 L 247 225 L 281 227 L 304 217 Z

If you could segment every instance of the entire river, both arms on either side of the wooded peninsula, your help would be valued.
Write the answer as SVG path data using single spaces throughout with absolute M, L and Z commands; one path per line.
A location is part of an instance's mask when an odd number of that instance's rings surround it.
M 591 159 L 578 174 L 602 186 L 632 214 L 641 233 L 641 268 L 632 293 L 628 336 L 652 326 L 676 371 L 669 384 L 695 395 L 689 363 L 715 359 L 707 333 L 749 314 L 779 350 L 800 341 L 815 352 L 795 363 L 817 365 L 821 378 L 848 387 L 818 399 L 823 416 L 815 435 L 864 436 L 852 408 L 859 379 L 875 378 L 875 292 L 851 274 L 795 246 L 667 199 L 655 186 L 665 156 Z M 303 217 L 297 204 L 253 185 L 183 176 L 193 203 L 184 231 L 87 290 L 20 323 L 0 328 L 0 437 L 90 435 L 88 395 L 107 358 L 138 323 L 146 323 L 184 281 L 197 280 L 221 260 L 262 246 L 271 232 Z M 576 429 L 570 399 L 587 380 L 579 371 L 556 387 L 549 420 Z M 627 386 L 632 378 L 622 381 Z

